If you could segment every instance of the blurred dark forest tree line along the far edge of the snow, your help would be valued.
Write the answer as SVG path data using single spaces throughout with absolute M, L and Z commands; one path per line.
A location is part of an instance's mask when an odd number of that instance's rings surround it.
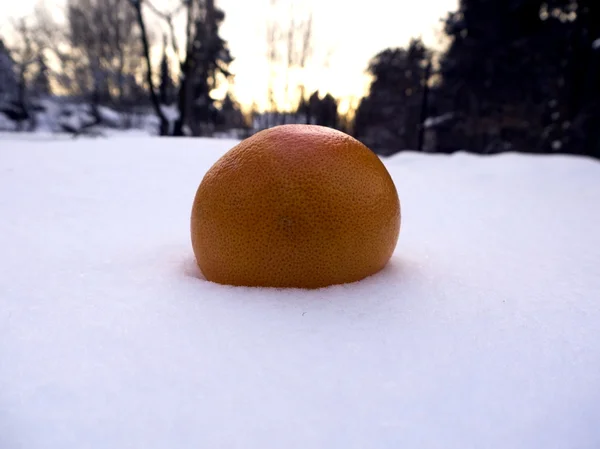
M 214 0 L 182 0 L 170 11 L 150 0 L 67 0 L 62 22 L 39 7 L 14 21 L 10 46 L 0 40 L 0 111 L 31 129 L 37 100 L 54 93 L 85 102 L 92 125 L 102 121 L 102 106 L 150 109 L 161 135 L 250 133 L 299 122 L 341 129 L 385 154 L 600 158 L 596 0 L 461 0 L 442 19 L 444 48 L 413 39 L 406 48 L 383 49 L 368 63 L 367 94 L 343 115 L 339 99 L 288 81 L 313 56 L 311 14 L 266 24 L 265 57 L 286 67 L 271 73 L 266 113 L 242 113 L 231 94 L 215 100 L 220 83 L 234 83 L 224 20 Z M 158 47 L 162 58 L 153 64 Z M 277 77 L 285 79 L 284 104 L 275 100 Z

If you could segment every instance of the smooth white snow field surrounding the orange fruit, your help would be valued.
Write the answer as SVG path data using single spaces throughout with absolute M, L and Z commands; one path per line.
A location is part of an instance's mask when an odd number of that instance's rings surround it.
M 234 143 L 0 140 L 0 448 L 600 447 L 600 163 L 402 153 L 386 269 L 251 289 L 189 238 Z

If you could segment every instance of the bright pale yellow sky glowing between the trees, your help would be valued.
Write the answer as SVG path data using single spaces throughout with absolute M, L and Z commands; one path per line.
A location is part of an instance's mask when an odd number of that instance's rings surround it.
M 47 0 L 47 5 L 60 5 L 64 0 Z M 157 7 L 168 10 L 177 0 L 155 0 Z M 289 23 L 289 4 L 278 2 L 281 23 Z M 8 1 L 2 6 L 0 33 L 9 18 L 32 11 L 37 0 Z M 270 66 L 266 60 L 267 23 L 273 0 L 216 0 L 225 11 L 222 37 L 228 41 L 235 58 L 231 71 L 235 74 L 231 86 L 222 85 L 217 96 L 230 89 L 245 107 L 255 102 L 259 109 L 267 104 Z M 301 73 L 291 73 L 292 91 L 302 82 L 308 92 L 316 89 L 340 99 L 341 109 L 356 103 L 365 93 L 369 78 L 365 70 L 369 59 L 387 47 L 406 46 L 411 37 L 421 37 L 425 43 L 440 48 L 443 45 L 440 19 L 455 10 L 457 0 L 297 0 L 294 16 L 313 15 L 313 57 Z M 160 42 L 160 39 L 157 39 Z M 298 71 L 296 71 L 298 72 Z M 286 104 L 283 95 L 286 75 L 275 73 L 278 102 Z M 290 104 L 293 95 L 288 96 Z

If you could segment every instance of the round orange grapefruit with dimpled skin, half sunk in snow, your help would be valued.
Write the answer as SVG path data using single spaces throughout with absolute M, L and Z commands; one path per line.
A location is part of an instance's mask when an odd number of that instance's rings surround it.
M 194 254 L 220 284 L 318 288 L 381 270 L 400 232 L 400 202 L 381 160 L 315 125 L 243 140 L 206 173 L 191 216 Z

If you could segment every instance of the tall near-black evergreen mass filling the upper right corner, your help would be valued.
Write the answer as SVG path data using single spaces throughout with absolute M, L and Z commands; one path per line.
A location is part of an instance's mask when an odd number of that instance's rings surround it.
M 598 154 L 597 1 L 461 0 L 445 32 L 438 93 L 455 146 Z

